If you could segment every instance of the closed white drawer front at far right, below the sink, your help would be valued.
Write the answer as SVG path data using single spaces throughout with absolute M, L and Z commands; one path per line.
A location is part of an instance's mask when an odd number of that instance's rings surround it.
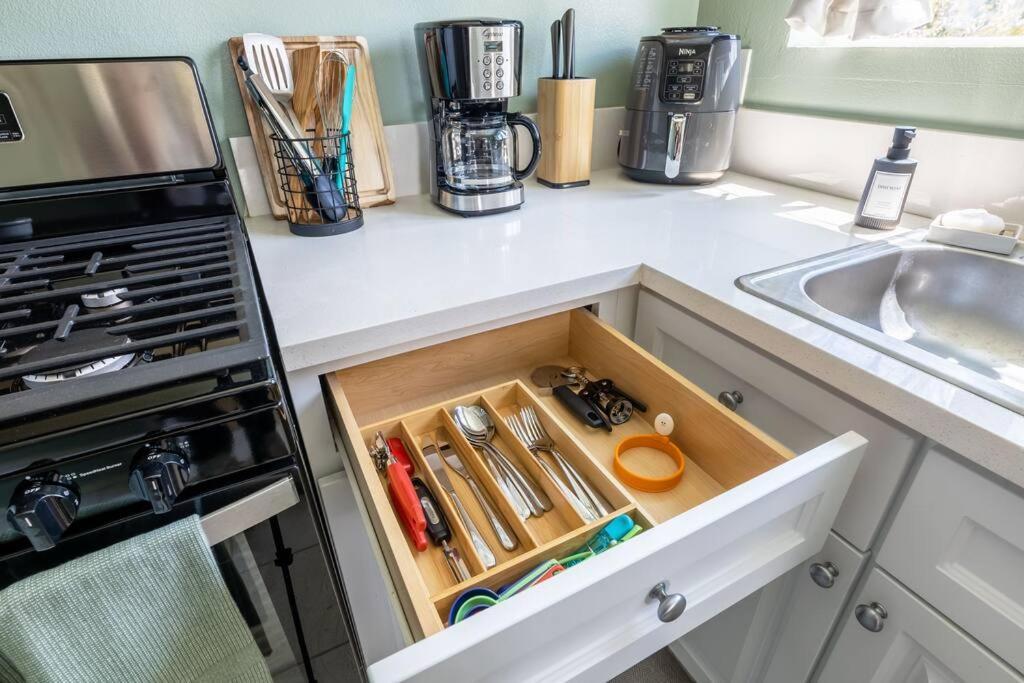
M 879 563 L 1024 671 L 1024 498 L 939 449 L 926 455 Z

